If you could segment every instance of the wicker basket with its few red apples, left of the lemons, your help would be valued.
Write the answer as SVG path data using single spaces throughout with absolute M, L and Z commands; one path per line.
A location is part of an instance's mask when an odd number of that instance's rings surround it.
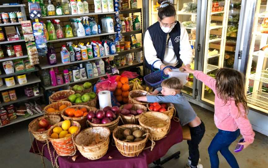
M 44 115 L 30 122 L 28 129 L 33 134 L 34 138 L 42 143 L 47 140 L 47 131 L 54 124 L 60 122 L 58 115 Z

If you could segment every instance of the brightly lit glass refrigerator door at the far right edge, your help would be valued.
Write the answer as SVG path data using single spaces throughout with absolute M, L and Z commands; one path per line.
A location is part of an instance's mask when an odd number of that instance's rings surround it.
M 253 22 L 245 91 L 250 108 L 268 113 L 268 5 L 258 0 Z

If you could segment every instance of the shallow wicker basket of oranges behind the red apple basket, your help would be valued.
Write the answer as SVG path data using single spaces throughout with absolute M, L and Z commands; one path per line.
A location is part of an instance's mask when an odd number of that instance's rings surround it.
M 47 115 L 59 115 L 60 116 L 60 112 L 62 110 L 64 110 L 65 108 L 71 106 L 72 103 L 69 101 L 57 101 L 51 104 L 48 104 L 43 111 L 47 114 Z

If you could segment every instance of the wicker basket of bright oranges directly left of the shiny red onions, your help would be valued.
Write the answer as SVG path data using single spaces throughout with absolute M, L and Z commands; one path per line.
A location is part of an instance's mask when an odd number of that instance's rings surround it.
M 95 107 L 89 107 L 86 105 L 73 105 L 65 108 L 61 111 L 61 117 L 65 120 L 73 120 L 80 123 L 81 128 L 87 127 L 87 114 L 88 112 L 96 112 Z

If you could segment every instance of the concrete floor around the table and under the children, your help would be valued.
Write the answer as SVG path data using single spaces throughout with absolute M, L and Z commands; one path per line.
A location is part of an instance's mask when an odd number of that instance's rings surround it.
M 217 133 L 217 128 L 213 122 L 213 113 L 192 104 L 197 115 L 203 120 L 206 126 L 205 135 L 199 145 L 201 163 L 204 168 L 210 167 L 208 146 L 212 138 Z M 28 168 L 42 167 L 39 155 L 29 153 L 30 138 L 28 124 L 30 120 L 20 122 L 11 126 L 1 128 L 0 134 L 0 168 Z M 239 137 L 231 146 L 233 150 Z M 168 157 L 172 153 L 181 151 L 179 159 L 172 159 L 164 164 L 165 168 L 183 168 L 187 162 L 188 145 L 186 141 L 174 145 L 163 157 Z M 255 141 L 240 153 L 234 153 L 241 168 L 264 168 L 268 165 L 268 137 L 256 132 Z M 219 153 L 220 167 L 230 167 L 224 157 Z M 45 159 L 46 167 L 52 167 L 51 163 Z M 149 167 L 153 166 L 150 164 Z

